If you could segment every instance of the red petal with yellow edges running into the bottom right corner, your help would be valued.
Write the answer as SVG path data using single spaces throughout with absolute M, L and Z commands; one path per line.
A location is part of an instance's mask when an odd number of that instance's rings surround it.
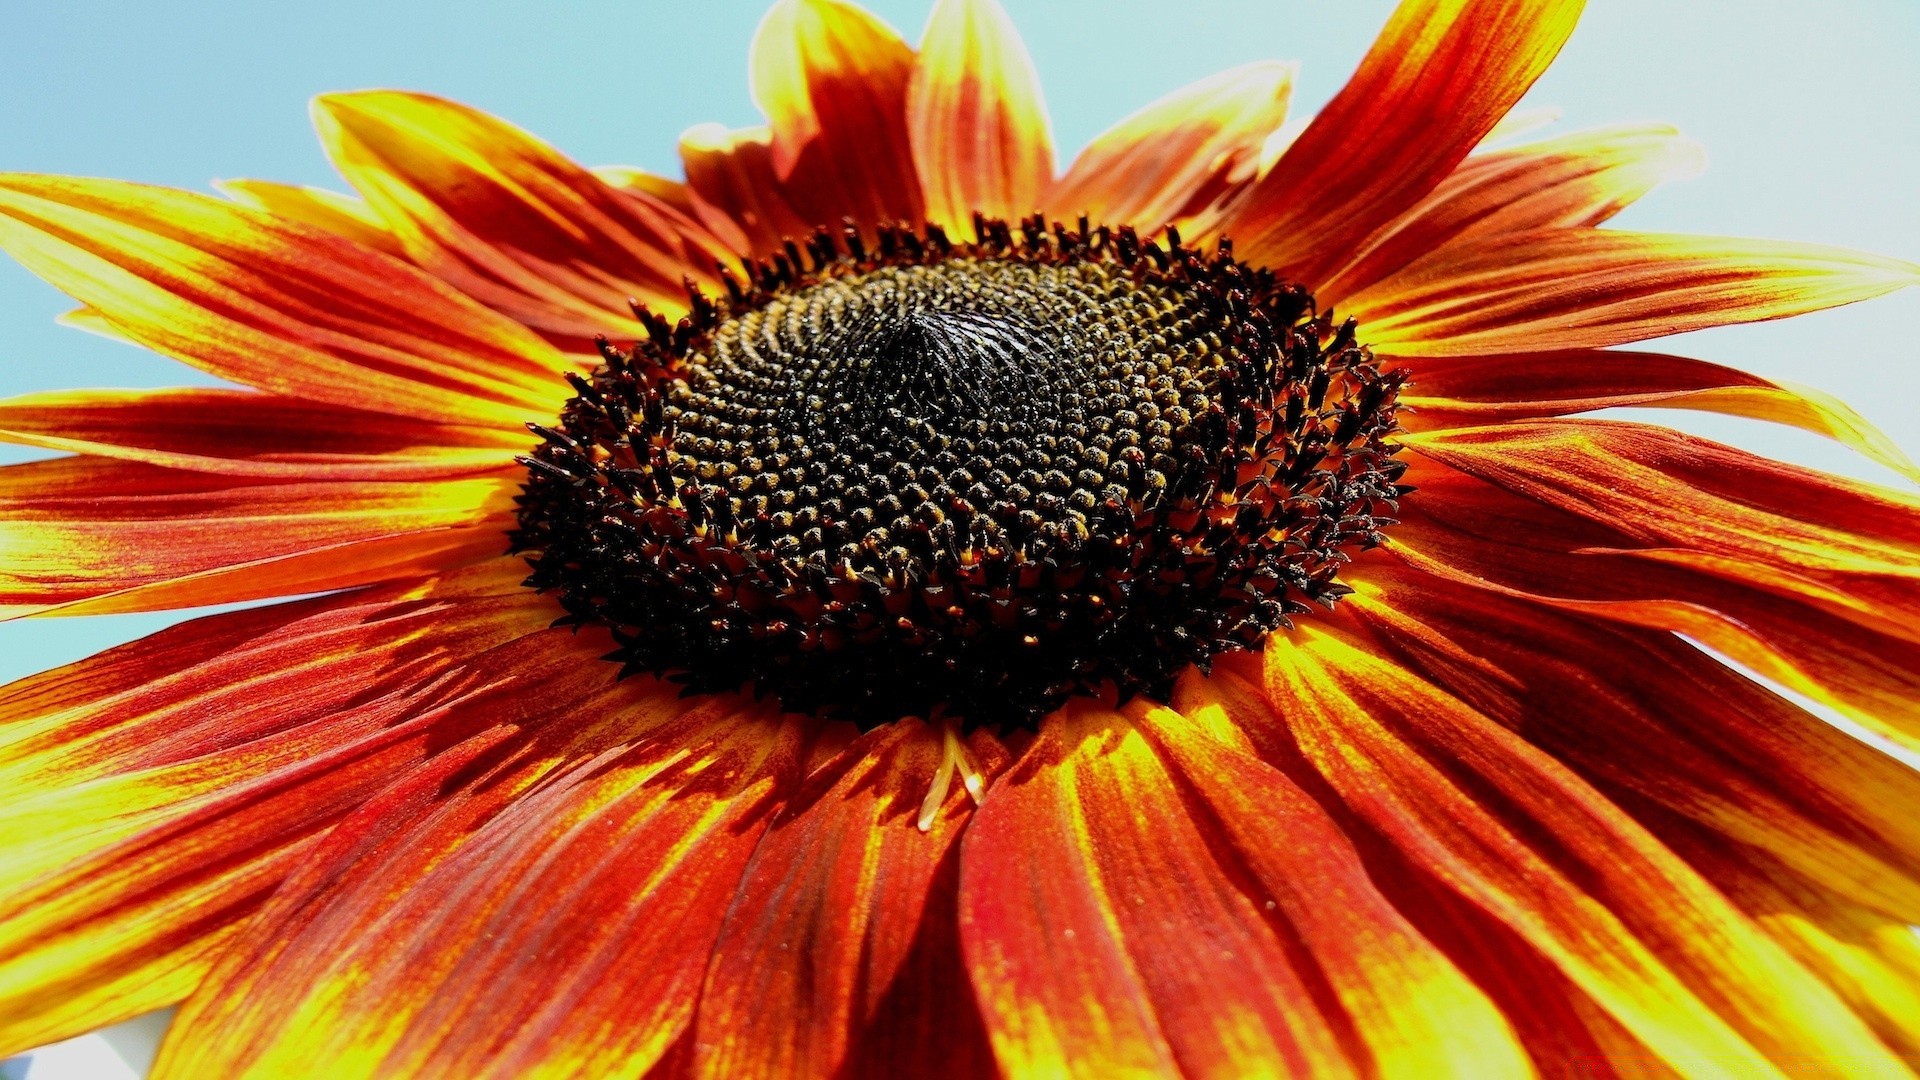
M 1674 1068 L 1897 1068 L 1826 984 L 1615 803 L 1334 623 L 1267 648 L 1267 738 L 1296 746 L 1419 888 L 1498 919 Z

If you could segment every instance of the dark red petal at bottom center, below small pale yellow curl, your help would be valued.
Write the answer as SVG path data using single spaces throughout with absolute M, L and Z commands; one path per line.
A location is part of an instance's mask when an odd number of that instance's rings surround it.
M 993 1074 L 956 930 L 972 798 L 952 784 L 916 826 L 943 749 L 920 721 L 868 732 L 766 832 L 707 970 L 695 1072 Z M 970 753 L 987 774 L 1006 755 L 987 734 Z

